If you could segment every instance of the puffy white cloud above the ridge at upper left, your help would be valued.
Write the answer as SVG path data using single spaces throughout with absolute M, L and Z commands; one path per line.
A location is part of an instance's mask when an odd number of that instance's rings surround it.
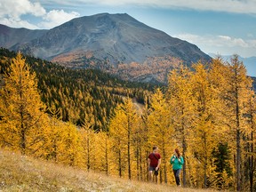
M 22 19 L 29 16 L 30 20 Z M 31 16 L 43 20 L 38 25 L 31 23 Z M 32 0 L 0 0 L 0 23 L 12 28 L 52 28 L 79 16 L 78 12 L 52 10 Z

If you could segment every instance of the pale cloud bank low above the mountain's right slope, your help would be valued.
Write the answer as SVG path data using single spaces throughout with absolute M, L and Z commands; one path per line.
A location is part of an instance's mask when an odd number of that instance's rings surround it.
M 256 39 L 242 39 L 232 36 L 197 36 L 193 34 L 179 34 L 175 37 L 196 44 L 205 53 L 220 53 L 232 55 L 237 53 L 242 57 L 255 56 Z

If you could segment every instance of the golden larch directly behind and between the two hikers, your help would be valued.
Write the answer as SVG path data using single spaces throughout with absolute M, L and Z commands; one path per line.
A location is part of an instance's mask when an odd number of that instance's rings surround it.
M 158 88 L 152 95 L 151 112 L 148 116 L 148 144 L 157 146 L 161 153 L 160 179 L 164 178 L 164 183 L 170 177 L 170 157 L 174 150 L 173 144 L 173 124 L 171 108 L 164 98 L 163 92 Z M 160 181 L 161 181 L 160 180 Z

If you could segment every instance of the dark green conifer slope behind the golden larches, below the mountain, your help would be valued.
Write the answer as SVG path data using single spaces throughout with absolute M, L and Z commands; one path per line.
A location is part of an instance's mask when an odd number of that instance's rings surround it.
M 15 52 L 0 49 L 0 73 L 10 66 Z M 108 118 L 122 96 L 144 102 L 156 85 L 120 80 L 97 69 L 70 69 L 46 60 L 26 56 L 26 62 L 36 72 L 38 89 L 47 106 L 47 113 L 77 125 L 90 119 L 94 130 L 108 129 Z M 90 60 L 88 61 L 90 62 Z

